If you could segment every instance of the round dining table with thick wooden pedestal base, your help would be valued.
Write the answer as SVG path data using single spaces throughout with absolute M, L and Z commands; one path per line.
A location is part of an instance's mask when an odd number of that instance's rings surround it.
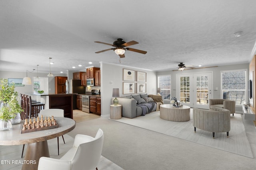
M 67 117 L 54 117 L 58 127 L 21 133 L 24 121 L 12 125 L 10 130 L 0 131 L 0 145 L 27 145 L 22 170 L 37 170 L 40 157 L 50 157 L 47 140 L 65 135 L 76 127 L 76 121 Z M 57 145 L 57 144 L 56 144 Z M 20 154 L 22 150 L 17 150 Z

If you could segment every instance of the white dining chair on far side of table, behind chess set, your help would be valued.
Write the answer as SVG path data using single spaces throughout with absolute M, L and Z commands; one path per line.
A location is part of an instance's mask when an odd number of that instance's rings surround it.
M 64 110 L 63 109 L 42 109 L 40 110 L 40 113 L 38 114 L 38 117 L 41 117 L 41 115 L 43 115 L 44 117 L 64 117 Z M 62 135 L 62 139 L 63 139 L 63 142 L 65 144 L 65 141 L 64 141 L 64 137 Z M 57 142 L 58 142 L 58 155 L 60 155 L 60 152 L 59 152 L 59 137 L 57 137 Z M 22 148 L 22 154 L 21 154 L 21 157 L 23 157 L 23 152 L 24 152 L 24 146 L 23 145 L 23 148 Z

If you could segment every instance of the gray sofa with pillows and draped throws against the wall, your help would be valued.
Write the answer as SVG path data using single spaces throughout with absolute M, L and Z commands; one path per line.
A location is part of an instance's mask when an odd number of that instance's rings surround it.
M 134 118 L 143 115 L 142 107 L 137 106 L 137 104 L 141 104 L 141 102 L 145 102 L 143 99 L 145 98 L 152 98 L 154 102 L 156 103 L 152 111 L 158 111 L 159 106 L 163 104 L 162 96 L 160 95 L 148 95 L 148 94 L 136 94 L 136 95 L 129 95 L 129 96 L 123 96 L 118 99 L 118 104 L 122 105 L 122 117 L 127 118 Z M 114 98 L 112 98 L 111 102 L 113 104 Z M 145 102 L 146 103 L 146 102 Z M 147 112 L 148 112 L 147 108 Z

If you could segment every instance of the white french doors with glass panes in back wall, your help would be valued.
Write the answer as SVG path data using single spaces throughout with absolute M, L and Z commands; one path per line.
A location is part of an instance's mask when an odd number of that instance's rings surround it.
M 209 109 L 208 100 L 212 98 L 212 72 L 177 74 L 176 82 L 176 96 L 180 104 Z

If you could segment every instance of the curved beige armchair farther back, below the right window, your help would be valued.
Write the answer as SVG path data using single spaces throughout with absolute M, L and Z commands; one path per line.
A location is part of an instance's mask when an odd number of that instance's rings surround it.
M 228 99 L 209 99 L 209 110 L 214 110 L 215 107 L 228 109 L 230 114 L 236 112 L 236 102 Z

